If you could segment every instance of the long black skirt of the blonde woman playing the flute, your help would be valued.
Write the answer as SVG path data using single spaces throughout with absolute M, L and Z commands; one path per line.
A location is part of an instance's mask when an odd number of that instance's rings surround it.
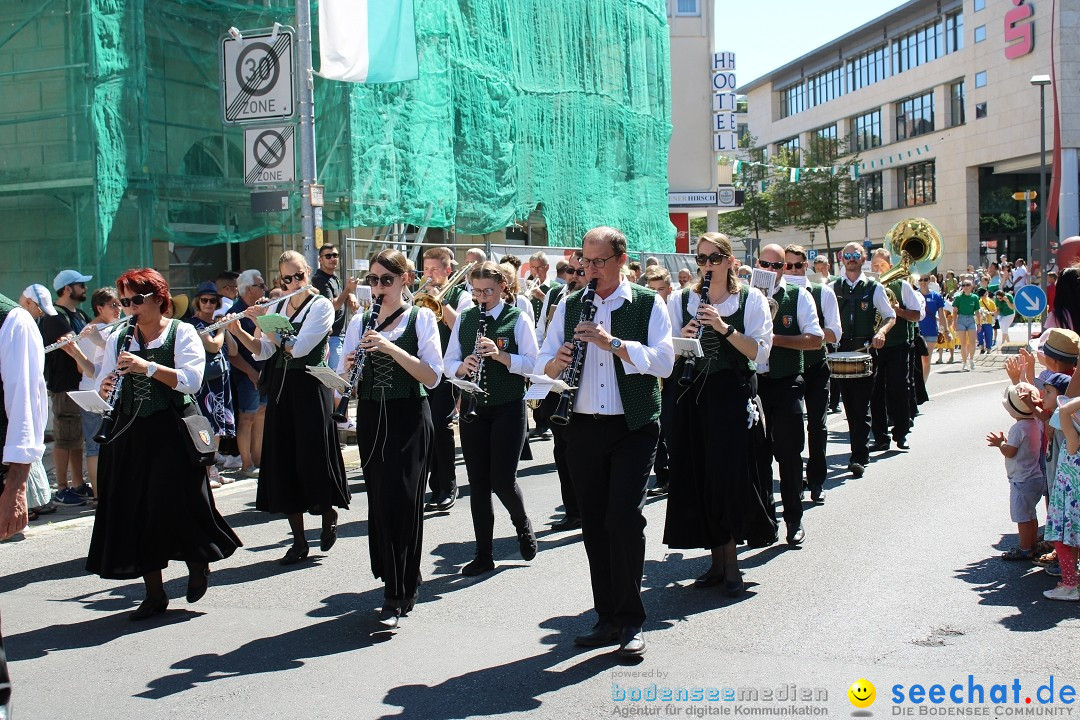
M 334 394 L 307 370 L 270 372 L 255 506 L 286 515 L 348 507 L 345 461 L 330 418 Z

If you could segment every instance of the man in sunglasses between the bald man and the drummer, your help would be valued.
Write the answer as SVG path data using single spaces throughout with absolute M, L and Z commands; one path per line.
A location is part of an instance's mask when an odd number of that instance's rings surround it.
M 819 258 L 823 259 L 823 258 Z M 826 449 L 828 447 L 828 431 L 825 420 L 828 417 L 829 371 L 825 362 L 826 344 L 835 345 L 842 336 L 840 309 L 836 302 L 836 294 L 827 284 L 807 283 L 807 255 L 801 245 L 788 245 L 784 248 L 784 279 L 794 285 L 806 287 L 813 298 L 818 311 L 818 323 L 825 334 L 825 341 L 815 350 L 802 353 L 804 393 L 807 404 L 807 440 L 810 445 L 807 459 L 807 486 L 810 488 L 810 499 L 820 503 L 825 498 L 825 475 L 828 473 Z M 818 266 L 818 262 L 814 262 Z M 826 266 L 828 262 L 826 261 Z M 827 268 L 826 268 L 827 272 Z

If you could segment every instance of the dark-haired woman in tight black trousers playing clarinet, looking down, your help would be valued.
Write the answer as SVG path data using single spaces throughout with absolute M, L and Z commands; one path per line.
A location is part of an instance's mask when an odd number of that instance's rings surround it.
M 486 395 L 475 396 L 475 417 L 462 415 L 458 425 L 461 454 L 469 471 L 476 557 L 461 569 L 480 575 L 495 569 L 491 492 L 517 531 L 522 559 L 537 554 L 537 539 L 517 487 L 517 461 L 525 445 L 525 378 L 532 372 L 539 349 L 531 318 L 505 301 L 504 271 L 494 262 L 475 266 L 469 273 L 476 305 L 458 318 L 443 362 L 446 377 L 476 378 L 482 372 Z M 485 329 L 478 335 L 482 316 Z M 483 365 L 483 368 L 481 366 Z

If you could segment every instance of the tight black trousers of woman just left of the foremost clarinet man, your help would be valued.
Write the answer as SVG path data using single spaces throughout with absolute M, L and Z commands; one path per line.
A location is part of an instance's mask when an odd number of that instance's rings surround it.
M 491 557 L 495 512 L 491 492 L 518 532 L 528 527 L 525 500 L 517 487 L 517 460 L 525 444 L 525 400 L 502 405 L 476 406 L 476 417 L 462 422 L 461 454 L 469 473 L 469 504 L 472 510 L 476 556 Z

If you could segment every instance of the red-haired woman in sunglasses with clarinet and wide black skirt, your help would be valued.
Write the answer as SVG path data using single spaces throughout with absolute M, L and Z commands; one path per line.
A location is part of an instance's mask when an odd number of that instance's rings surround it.
M 210 563 L 241 543 L 214 506 L 206 468 L 191 462 L 180 423 L 202 385 L 199 335 L 164 317 L 168 285 L 157 270 L 125 272 L 117 290 L 131 323 L 109 338 L 97 373 L 103 399 L 118 376 L 123 383 L 111 439 L 102 446 L 86 570 L 108 580 L 141 576 L 146 599 L 131 619 L 146 620 L 168 607 L 161 571 L 170 560 L 187 562 L 187 600 L 195 602 L 206 593 Z

